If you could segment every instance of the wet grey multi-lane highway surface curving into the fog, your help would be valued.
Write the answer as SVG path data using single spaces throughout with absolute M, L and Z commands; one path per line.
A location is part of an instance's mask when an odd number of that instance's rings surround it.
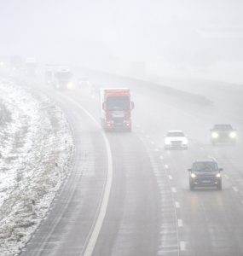
M 48 90 L 67 114 L 75 153 L 21 255 L 243 255 L 242 143 L 211 146 L 209 136 L 218 122 L 242 134 L 242 88 L 207 83 L 200 93 L 213 104 L 124 84 L 135 102 L 131 133 L 103 133 L 97 90 Z M 188 135 L 188 150 L 164 149 L 172 129 Z M 207 158 L 223 167 L 223 190 L 190 191 L 188 168 Z

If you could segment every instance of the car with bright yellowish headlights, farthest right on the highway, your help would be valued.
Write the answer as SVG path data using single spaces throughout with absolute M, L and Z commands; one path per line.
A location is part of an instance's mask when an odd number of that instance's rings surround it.
M 229 124 L 214 125 L 211 129 L 211 144 L 236 143 L 237 133 Z

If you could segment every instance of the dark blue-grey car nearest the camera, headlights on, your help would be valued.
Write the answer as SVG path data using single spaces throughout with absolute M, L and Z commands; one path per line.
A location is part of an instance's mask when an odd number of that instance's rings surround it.
M 215 160 L 197 160 L 194 161 L 189 172 L 189 185 L 193 190 L 198 187 L 212 187 L 216 186 L 218 190 L 222 189 L 221 171 Z

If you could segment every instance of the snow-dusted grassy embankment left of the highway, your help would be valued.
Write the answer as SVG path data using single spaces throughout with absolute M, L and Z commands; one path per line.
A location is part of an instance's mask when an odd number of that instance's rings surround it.
M 67 178 L 71 131 L 46 96 L 0 81 L 0 252 L 16 255 Z

